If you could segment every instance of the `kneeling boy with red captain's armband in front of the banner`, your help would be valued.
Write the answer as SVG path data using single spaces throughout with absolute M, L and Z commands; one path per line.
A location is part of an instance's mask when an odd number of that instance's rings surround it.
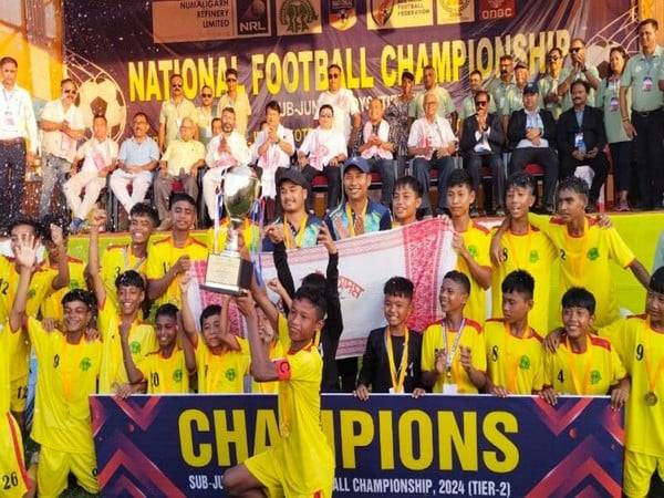
M 325 299 L 322 292 L 302 287 L 295 292 L 288 314 L 288 338 L 279 340 L 288 351 L 284 359 L 270 361 L 257 326 L 253 300 L 238 298 L 247 319 L 251 349 L 251 374 L 258 382 L 279 381 L 278 413 L 281 439 L 224 474 L 230 496 L 317 496 L 330 498 L 334 457 L 321 429 L 321 375 L 323 363 L 312 344 L 323 326 Z

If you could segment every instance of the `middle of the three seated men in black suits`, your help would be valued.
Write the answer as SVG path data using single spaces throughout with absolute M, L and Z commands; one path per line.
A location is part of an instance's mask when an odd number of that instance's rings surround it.
M 538 105 L 538 89 L 530 83 L 523 89 L 523 108 L 515 111 L 507 126 L 507 139 L 513 147 L 508 176 L 522 172 L 526 165 L 537 163 L 544 169 L 544 200 L 547 212 L 554 210 L 554 190 L 558 179 L 556 122 L 553 115 Z

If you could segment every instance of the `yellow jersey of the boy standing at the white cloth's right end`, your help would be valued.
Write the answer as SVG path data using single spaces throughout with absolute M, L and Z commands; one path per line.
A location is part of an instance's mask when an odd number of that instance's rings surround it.
M 489 251 L 491 247 L 491 235 L 481 225 L 470 221 L 468 229 L 461 232 L 466 249 L 479 266 L 491 267 Z M 464 309 L 464 314 L 471 320 L 475 320 L 480 325 L 487 318 L 487 293 L 479 283 L 470 276 L 470 270 L 466 260 L 461 257 L 457 258 L 458 271 L 465 273 L 470 279 L 470 295 Z

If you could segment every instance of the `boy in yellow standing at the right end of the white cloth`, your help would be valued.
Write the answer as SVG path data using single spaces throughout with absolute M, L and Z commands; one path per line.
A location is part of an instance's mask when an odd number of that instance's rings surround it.
M 470 219 L 475 203 L 473 180 L 465 169 L 455 169 L 447 179 L 447 207 L 449 208 L 454 238 L 452 247 L 457 253 L 456 269 L 470 280 L 466 317 L 480 325 L 486 319 L 486 290 L 491 286 L 489 230 Z

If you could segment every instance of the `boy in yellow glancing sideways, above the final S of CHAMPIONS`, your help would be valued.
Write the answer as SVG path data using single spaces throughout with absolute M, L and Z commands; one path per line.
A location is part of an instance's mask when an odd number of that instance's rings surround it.
M 509 273 L 501 286 L 502 317 L 484 326 L 487 352 L 485 391 L 499 397 L 542 390 L 542 338 L 529 325 L 535 279 L 525 270 Z

